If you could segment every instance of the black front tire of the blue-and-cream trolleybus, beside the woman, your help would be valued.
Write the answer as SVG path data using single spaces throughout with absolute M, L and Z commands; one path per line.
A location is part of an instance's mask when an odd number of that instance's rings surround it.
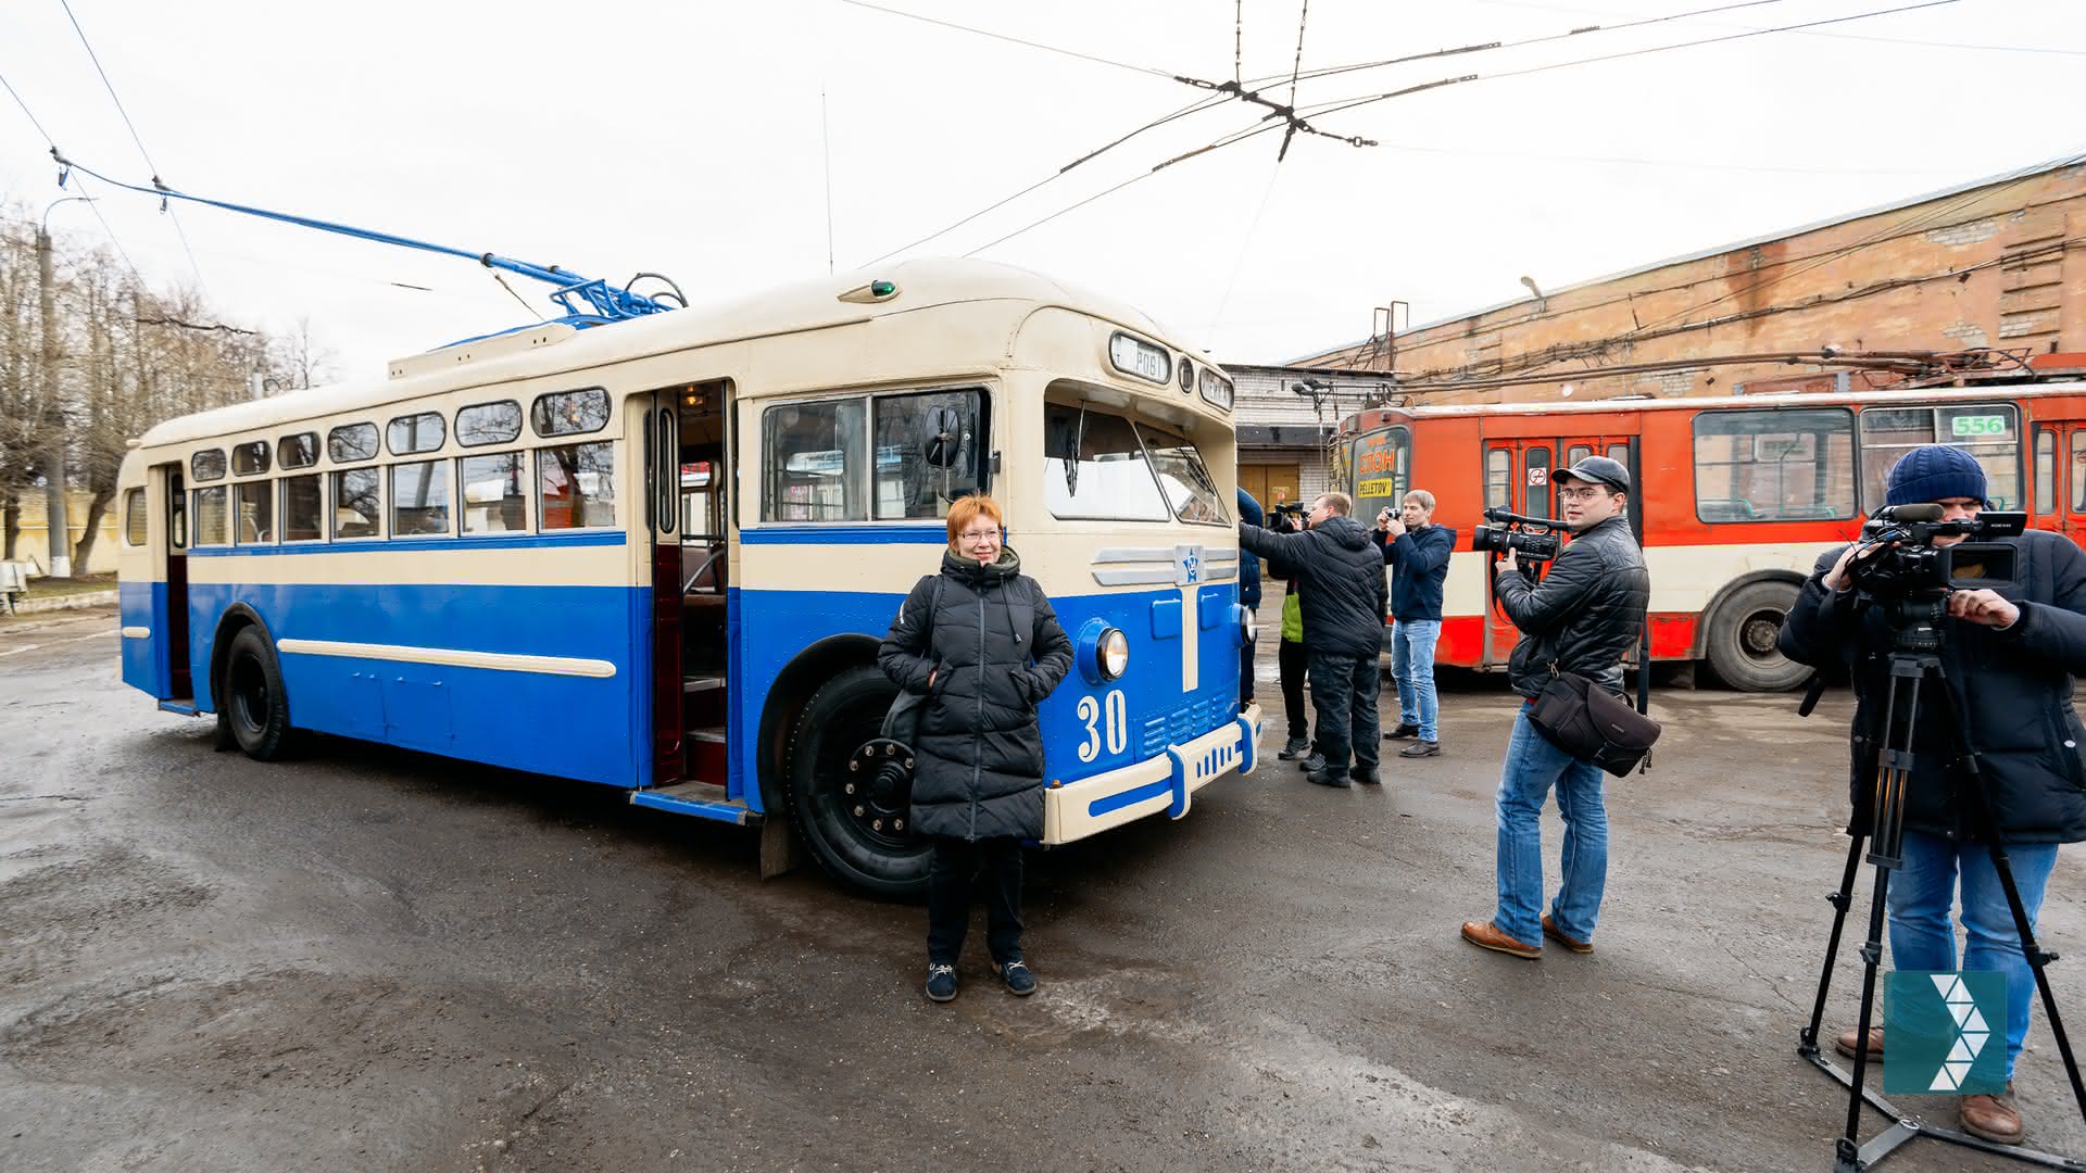
M 895 829 L 891 812 L 874 810 L 870 779 L 847 768 L 853 751 L 880 735 L 897 693 L 897 685 L 870 664 L 847 668 L 811 693 L 791 731 L 782 797 L 811 856 L 834 879 L 884 900 L 920 900 L 926 895 L 928 841 Z M 903 810 L 897 816 L 903 818 Z M 872 829 L 872 818 L 880 818 L 882 829 Z

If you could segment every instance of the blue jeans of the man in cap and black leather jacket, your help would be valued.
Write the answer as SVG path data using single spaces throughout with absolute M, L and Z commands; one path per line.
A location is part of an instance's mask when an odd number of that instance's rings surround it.
M 1550 918 L 1575 941 L 1594 939 L 1600 893 L 1608 885 L 1608 810 L 1600 801 L 1600 766 L 1552 745 L 1529 722 L 1527 705 L 1514 714 L 1500 770 L 1500 906 L 1494 927 L 1527 945 L 1544 943 L 1544 797 L 1558 791 L 1564 818 L 1564 877 Z

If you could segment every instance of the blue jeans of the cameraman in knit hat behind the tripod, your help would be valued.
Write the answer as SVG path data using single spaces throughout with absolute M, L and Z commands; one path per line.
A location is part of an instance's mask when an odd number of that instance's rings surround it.
M 2028 925 L 2042 910 L 2042 889 L 2057 866 L 2057 843 L 2013 843 L 2007 847 L 2013 883 L 2021 889 Z M 1963 877 L 1965 971 L 2007 975 L 2007 1079 L 2028 1037 L 2028 1012 L 2036 1004 L 2036 971 L 2021 954 L 2013 931 L 2007 889 L 1984 843 L 1957 843 L 1923 831 L 1905 833 L 1905 868 L 1890 877 L 1890 964 L 1902 971 L 1952 971 L 1957 872 Z

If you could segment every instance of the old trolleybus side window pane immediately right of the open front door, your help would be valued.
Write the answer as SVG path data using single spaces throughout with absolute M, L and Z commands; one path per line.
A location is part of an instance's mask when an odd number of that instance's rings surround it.
M 761 520 L 866 522 L 859 399 L 784 403 L 761 413 Z

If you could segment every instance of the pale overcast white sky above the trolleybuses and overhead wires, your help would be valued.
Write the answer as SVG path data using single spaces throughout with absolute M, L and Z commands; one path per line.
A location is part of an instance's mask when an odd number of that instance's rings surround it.
M 1316 121 L 1379 146 L 1300 136 L 1277 167 L 1272 131 L 1149 173 L 1264 111 L 1193 113 L 914 253 L 1041 269 L 1222 361 L 1275 363 L 1366 336 L 1389 298 L 1431 321 L 1525 294 L 1521 276 L 1554 290 L 2086 152 L 2076 0 L 1952 0 L 1500 77 L 1911 2 L 1773 0 L 1304 79 L 1300 106 L 1479 75 Z M 1302 67 L 1715 4 L 1312 0 Z M 71 0 L 175 188 L 617 282 L 663 271 L 697 305 L 824 273 L 828 255 L 870 265 L 1208 96 L 1168 75 L 1233 77 L 1231 0 L 887 6 L 1106 61 L 843 0 Z M 1287 79 L 1297 17 L 1243 2 L 1247 79 Z M 71 157 L 150 175 L 60 0 L 0 4 L 0 77 Z M 0 200 L 42 213 L 69 194 L 54 179 L 0 94 Z M 528 319 L 467 261 L 175 205 L 184 248 L 154 200 L 90 192 L 150 282 L 200 282 L 238 321 L 309 317 L 340 376 Z M 86 205 L 52 225 L 102 236 Z

